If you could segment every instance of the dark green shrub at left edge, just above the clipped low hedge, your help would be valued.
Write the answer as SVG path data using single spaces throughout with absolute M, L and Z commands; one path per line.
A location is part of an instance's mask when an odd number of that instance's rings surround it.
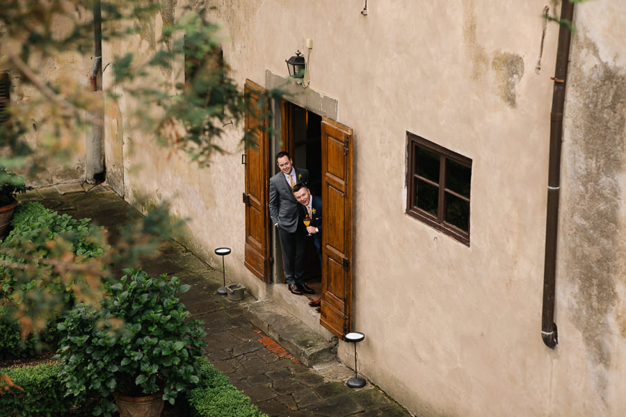
M 10 316 L 6 307 L 0 306 L 0 359 L 33 357 L 43 349 L 56 350 L 60 338 L 56 324 L 26 339 L 22 339 L 19 331 L 17 320 Z

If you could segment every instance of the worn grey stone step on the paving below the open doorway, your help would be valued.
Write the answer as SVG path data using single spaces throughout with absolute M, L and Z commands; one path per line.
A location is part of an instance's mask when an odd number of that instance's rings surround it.
M 248 304 L 243 316 L 305 366 L 330 361 L 337 355 L 337 338 L 326 341 L 275 302 L 262 300 Z

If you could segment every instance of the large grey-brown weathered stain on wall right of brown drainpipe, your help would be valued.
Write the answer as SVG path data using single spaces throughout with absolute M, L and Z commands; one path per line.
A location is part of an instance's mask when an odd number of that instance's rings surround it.
M 616 322 L 622 337 L 626 332 L 616 289 L 616 280 L 621 285 L 625 281 L 620 207 L 624 204 L 626 73 L 602 62 L 597 46 L 584 33 L 572 42 L 565 104 L 571 126 L 563 155 L 571 186 L 562 196 L 561 263 L 563 280 L 571 286 L 568 310 L 581 333 L 597 389 L 606 400 L 612 344 L 624 342 L 615 340 L 619 333 L 612 331 L 611 323 Z

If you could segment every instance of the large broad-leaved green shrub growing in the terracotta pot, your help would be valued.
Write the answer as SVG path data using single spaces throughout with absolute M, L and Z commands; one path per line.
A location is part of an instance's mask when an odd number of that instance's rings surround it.
M 111 416 L 129 402 L 145 402 L 159 416 L 163 400 L 174 404 L 181 391 L 199 382 L 196 357 L 206 332 L 177 293 L 190 288 L 178 277 L 150 277 L 124 270 L 99 309 L 77 304 L 58 325 L 62 375 L 68 395 L 96 398 L 93 414 Z M 129 400 L 139 397 L 141 400 Z M 156 403 L 156 406 L 154 406 Z M 126 411 L 120 409 L 120 415 Z

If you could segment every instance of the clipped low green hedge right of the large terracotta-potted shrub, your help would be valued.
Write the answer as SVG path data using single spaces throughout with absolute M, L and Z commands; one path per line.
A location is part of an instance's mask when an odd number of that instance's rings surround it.
M 193 417 L 266 417 L 209 361 L 198 359 L 198 363 L 201 386 L 193 389 L 188 396 Z

